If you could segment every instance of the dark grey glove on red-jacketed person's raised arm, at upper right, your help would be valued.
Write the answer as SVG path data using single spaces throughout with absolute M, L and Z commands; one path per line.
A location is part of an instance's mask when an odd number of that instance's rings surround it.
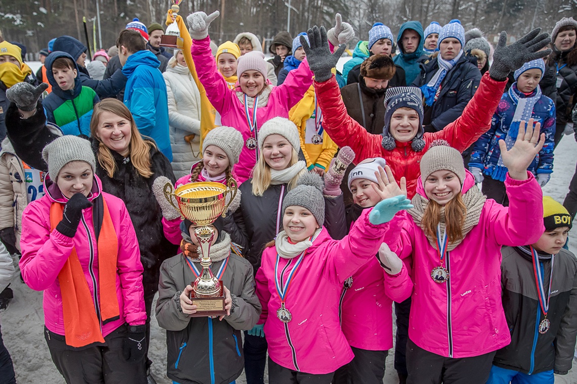
M 507 45 L 507 32 L 501 32 L 489 75 L 494 80 L 505 81 L 510 72 L 519 69 L 524 63 L 549 55 L 551 50 L 539 51 L 551 42 L 549 33 L 539 32 L 541 28 L 535 28 L 510 45 Z

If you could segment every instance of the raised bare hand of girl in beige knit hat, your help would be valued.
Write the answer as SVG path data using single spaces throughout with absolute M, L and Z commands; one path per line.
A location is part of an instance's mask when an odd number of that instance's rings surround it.
M 541 134 L 539 139 L 539 132 L 541 132 L 541 123 L 534 123 L 533 119 L 529 119 L 529 123 L 525 124 L 525 121 L 521 120 L 517 139 L 511 149 L 507 150 L 505 140 L 499 140 L 503 165 L 507 167 L 511 178 L 527 179 L 527 167 L 545 143 L 545 134 Z

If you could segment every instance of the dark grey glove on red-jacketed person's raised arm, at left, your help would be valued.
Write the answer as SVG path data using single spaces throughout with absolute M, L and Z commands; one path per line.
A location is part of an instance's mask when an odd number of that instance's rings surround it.
M 328 47 L 327 31 L 324 26 L 319 28 L 315 25 L 306 31 L 306 35 L 309 37 L 310 45 L 305 36 L 300 36 L 300 39 L 302 48 L 306 52 L 306 60 L 309 62 L 310 70 L 314 73 L 314 79 L 319 83 L 327 81 L 331 78 L 331 70 L 339 61 L 346 45 L 341 44 L 339 49 L 331 54 L 331 49 Z

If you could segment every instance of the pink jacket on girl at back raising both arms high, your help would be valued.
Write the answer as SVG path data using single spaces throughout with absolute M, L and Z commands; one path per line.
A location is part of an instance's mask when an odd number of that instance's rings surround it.
M 228 89 L 227 82 L 218 71 L 215 58 L 211 54 L 210 41 L 210 37 L 203 40 L 193 40 L 190 53 L 196 67 L 203 69 L 198 71 L 198 78 L 207 90 L 208 100 L 220 113 L 221 124 L 237 128 L 246 141 L 250 137 L 250 128 L 245 106 L 237 97 L 237 92 Z M 302 60 L 296 70 L 288 73 L 282 85 L 272 87 L 267 105 L 257 108 L 257 130 L 265 121 L 273 117 L 280 116 L 288 119 L 288 111 L 301 100 L 312 83 L 313 73 L 310 71 L 309 63 L 306 59 Z M 249 108 L 250 118 L 252 118 L 252 113 L 253 109 Z M 299 149 L 296 150 L 298 152 Z M 239 184 L 250 177 L 250 171 L 256 164 L 256 160 L 256 150 L 249 150 L 243 146 L 240 161 L 234 166 Z

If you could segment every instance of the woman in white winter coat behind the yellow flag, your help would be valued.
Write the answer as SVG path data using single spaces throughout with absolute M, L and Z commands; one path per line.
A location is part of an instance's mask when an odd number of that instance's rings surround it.
M 181 50 L 174 52 L 162 75 L 168 94 L 172 166 L 178 179 L 189 174 L 192 165 L 201 158 L 200 93 Z

